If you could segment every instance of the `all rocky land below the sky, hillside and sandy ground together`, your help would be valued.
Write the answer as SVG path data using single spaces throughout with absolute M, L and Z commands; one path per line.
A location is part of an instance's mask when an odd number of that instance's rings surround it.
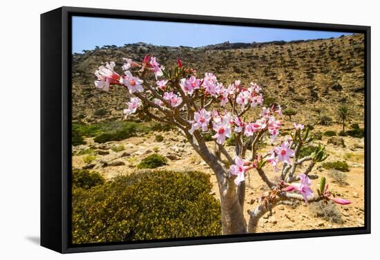
M 275 41 L 265 44 L 216 44 L 202 48 L 126 44 L 122 47 L 105 46 L 73 55 L 73 122 L 95 124 L 102 121 L 122 120 L 126 91 L 122 88 L 108 93 L 93 86 L 93 72 L 106 61 L 121 66 L 122 57 L 140 60 L 146 53 L 154 55 L 164 66 L 175 64 L 180 57 L 186 66 L 196 68 L 200 77 L 205 72 L 215 73 L 220 82 L 230 84 L 235 79 L 251 81 L 263 86 L 264 97 L 272 99 L 284 109 L 298 113 L 292 121 L 311 124 L 313 133 L 341 131 L 336 110 L 342 104 L 350 110 L 349 124 L 364 122 L 364 44 L 363 35 L 350 35 L 335 39 L 313 41 Z M 168 64 L 167 64 L 168 62 Z M 315 111 L 319 108 L 321 111 Z M 332 118 L 329 125 L 319 124 L 321 115 Z M 284 117 L 284 131 L 292 129 L 292 121 Z M 158 141 L 155 137 L 162 136 Z M 191 146 L 175 131 L 141 133 L 137 136 L 99 144 L 92 137 L 86 144 L 73 147 L 73 168 L 93 169 L 106 178 L 138 171 L 136 166 L 150 154 L 168 158 L 168 164 L 158 169 L 175 171 L 200 170 L 211 174 L 213 195 L 219 197 L 216 178 L 211 169 Z M 345 160 L 350 170 L 343 182 L 332 178 L 334 169 L 319 165 L 312 174 L 316 191 L 321 177 L 325 176 L 330 189 L 353 203 L 332 207 L 330 220 L 319 216 L 320 210 L 304 203 L 279 205 L 272 214 L 266 214 L 259 223 L 258 232 L 312 230 L 325 228 L 357 227 L 364 225 L 364 140 L 350 136 L 322 136 L 316 140 L 326 145 L 330 154 L 327 162 Z M 211 145 L 212 142 L 209 142 Z M 343 145 L 344 144 L 344 145 Z M 269 142 L 260 151 L 269 151 Z M 234 147 L 227 147 L 232 151 Z M 272 167 L 267 175 L 275 179 Z M 247 177 L 245 210 L 257 205 L 257 198 L 266 186 L 254 174 Z

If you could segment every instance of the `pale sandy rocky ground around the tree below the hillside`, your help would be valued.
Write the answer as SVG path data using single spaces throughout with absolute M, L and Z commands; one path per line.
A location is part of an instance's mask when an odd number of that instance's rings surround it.
M 289 126 L 287 122 L 285 127 Z M 327 129 L 338 129 L 339 125 L 330 127 L 316 127 L 315 130 L 326 131 Z M 155 136 L 163 136 L 164 140 L 158 142 Z M 346 160 L 350 167 L 347 173 L 345 183 L 340 185 L 334 182 L 334 178 L 330 176 L 330 169 L 325 169 L 320 165 L 314 167 L 312 175 L 317 178 L 313 180 L 314 192 L 319 187 L 319 180 L 322 176 L 327 178 L 330 183 L 331 191 L 338 196 L 349 198 L 353 203 L 347 206 L 336 206 L 331 213 L 332 217 L 341 219 L 341 223 L 336 221 L 326 221 L 316 216 L 317 212 L 312 205 L 306 206 L 304 203 L 290 203 L 279 205 L 274 208 L 272 215 L 265 215 L 261 220 L 258 232 L 275 232 L 285 230 L 310 230 L 324 228 L 343 228 L 357 227 L 364 225 L 364 143 L 363 139 L 342 137 L 345 147 L 341 145 L 327 144 L 331 138 L 323 137 L 321 142 L 326 145 L 327 153 L 330 154 L 327 161 Z M 144 136 L 129 138 L 120 142 L 107 142 L 106 144 L 97 144 L 93 142 L 93 138 L 86 138 L 86 145 L 79 145 L 73 149 L 73 167 L 77 169 L 93 169 L 101 173 L 106 178 L 113 178 L 118 175 L 130 174 L 138 171 L 136 166 L 143 158 L 154 153 L 161 154 L 168 158 L 168 165 L 156 169 L 170 169 L 175 171 L 192 171 L 199 170 L 211 174 L 211 183 L 213 183 L 213 195 L 219 198 L 218 185 L 216 177 L 205 162 L 196 154 L 191 146 L 175 132 L 151 132 Z M 212 142 L 209 142 L 212 145 Z M 124 149 L 117 149 L 122 147 Z M 268 151 L 271 145 L 266 145 L 260 151 Z M 75 155 L 81 151 L 91 149 L 93 161 L 88 163 L 86 158 L 88 154 Z M 232 152 L 234 147 L 227 147 Z M 120 150 L 120 151 L 118 151 Z M 274 172 L 273 167 L 265 167 L 265 171 L 269 178 L 276 179 L 278 174 Z M 301 170 L 300 170 L 301 171 Z M 245 209 L 252 209 L 257 205 L 257 198 L 267 186 L 254 171 L 251 171 L 247 178 L 247 193 L 245 198 Z M 248 216 L 246 216 L 248 218 Z

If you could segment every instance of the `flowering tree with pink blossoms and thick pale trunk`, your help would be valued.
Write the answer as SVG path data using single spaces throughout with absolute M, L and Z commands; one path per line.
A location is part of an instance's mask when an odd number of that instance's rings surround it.
M 263 94 L 257 84 L 245 85 L 235 80 L 225 86 L 212 73 L 199 78 L 196 71 L 184 66 L 180 59 L 172 70 L 164 70 L 155 57 L 149 55 L 141 62 L 123 60 L 122 74 L 114 70 L 115 62 L 99 66 L 95 86 L 104 91 L 124 87 L 131 96 L 124 110 L 126 117 L 141 113 L 175 127 L 187 139 L 218 180 L 222 234 L 256 232 L 259 219 L 281 201 L 350 203 L 327 191 L 325 178 L 321 178 L 317 193 L 312 191 L 308 174 L 316 163 L 327 158 L 324 147 L 319 145 L 310 156 L 300 158 L 301 148 L 312 140 L 309 129 L 294 124 L 291 136 L 279 138 L 281 106 L 264 107 Z M 248 122 L 245 119 L 248 111 L 256 113 L 258 118 Z M 213 145 L 205 141 L 206 133 L 212 134 Z M 225 141 L 233 133 L 235 149 L 234 154 L 230 154 Z M 259 142 L 267 139 L 277 146 L 269 152 L 258 153 Z M 303 164 L 307 167 L 301 171 L 298 168 Z M 268 178 L 265 171 L 272 170 L 271 167 L 278 173 L 279 181 Z M 257 194 L 258 205 L 249 209 L 249 218 L 245 219 L 247 171 L 256 172 L 269 192 Z

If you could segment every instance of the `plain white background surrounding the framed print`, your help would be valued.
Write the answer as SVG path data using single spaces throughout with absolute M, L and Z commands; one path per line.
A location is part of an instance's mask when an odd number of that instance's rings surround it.
M 0 259 L 363 259 L 379 250 L 380 104 L 377 1 L 2 1 Z M 59 6 L 372 26 L 372 234 L 60 255 L 39 241 L 39 14 Z M 101 32 L 99 32 L 101 34 Z M 173 36 L 175 37 L 175 35 Z M 377 240 L 377 241 L 376 241 Z M 289 252 L 288 249 L 292 248 Z

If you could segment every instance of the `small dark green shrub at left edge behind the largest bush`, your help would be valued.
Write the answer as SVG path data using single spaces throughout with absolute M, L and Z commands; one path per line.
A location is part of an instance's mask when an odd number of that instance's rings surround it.
M 91 189 L 106 182 L 97 171 L 88 169 L 74 169 L 71 177 L 73 188 Z

